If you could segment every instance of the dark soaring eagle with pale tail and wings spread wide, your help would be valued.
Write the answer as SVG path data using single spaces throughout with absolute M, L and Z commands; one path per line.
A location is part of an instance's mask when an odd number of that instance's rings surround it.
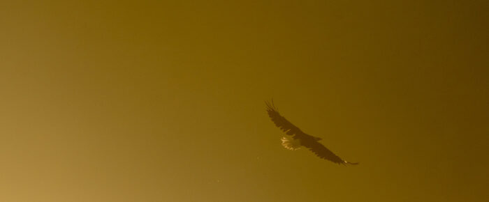
M 342 160 L 342 158 L 338 157 L 335 155 L 335 153 L 318 142 L 321 140 L 321 138 L 305 134 L 305 132 L 302 132 L 298 127 L 287 121 L 284 116 L 281 116 L 277 111 L 275 104 L 273 104 L 273 100 L 271 103 L 265 102 L 265 104 L 267 105 L 268 116 L 272 118 L 273 123 L 275 123 L 280 130 L 285 132 L 285 134 L 291 136 L 291 138 L 282 137 L 282 146 L 284 146 L 284 148 L 289 150 L 298 150 L 300 146 L 304 146 L 305 148 L 309 148 L 309 150 L 322 159 L 344 165 L 358 164 Z

